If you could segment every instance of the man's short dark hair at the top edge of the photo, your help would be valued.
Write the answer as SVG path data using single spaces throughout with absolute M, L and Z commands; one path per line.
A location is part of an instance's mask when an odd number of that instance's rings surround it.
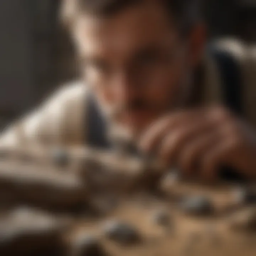
M 79 12 L 98 16 L 111 16 L 126 7 L 146 0 L 64 0 L 62 18 L 66 25 L 73 23 Z M 164 5 L 168 15 L 175 21 L 182 33 L 201 18 L 200 0 L 156 0 Z

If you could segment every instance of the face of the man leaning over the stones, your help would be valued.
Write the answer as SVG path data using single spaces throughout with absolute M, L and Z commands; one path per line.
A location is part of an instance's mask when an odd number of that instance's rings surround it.
M 188 42 L 157 1 L 107 18 L 77 18 L 75 38 L 87 84 L 112 118 L 139 133 L 186 100 Z

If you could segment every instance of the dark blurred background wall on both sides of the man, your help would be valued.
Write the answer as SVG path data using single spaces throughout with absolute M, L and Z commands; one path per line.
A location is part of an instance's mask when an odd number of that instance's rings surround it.
M 77 76 L 61 0 L 0 1 L 0 129 Z M 256 0 L 204 0 L 209 37 L 256 43 Z

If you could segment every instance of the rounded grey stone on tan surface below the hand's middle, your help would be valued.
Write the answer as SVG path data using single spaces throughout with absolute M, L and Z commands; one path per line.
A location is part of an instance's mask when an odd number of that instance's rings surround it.
M 181 202 L 181 208 L 185 213 L 192 215 L 209 215 L 213 213 L 213 204 L 203 196 L 187 197 Z

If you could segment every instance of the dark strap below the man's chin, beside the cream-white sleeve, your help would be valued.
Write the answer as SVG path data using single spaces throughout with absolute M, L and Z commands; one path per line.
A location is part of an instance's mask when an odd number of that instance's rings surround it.
M 93 94 L 86 95 L 86 144 L 97 148 L 108 148 L 107 125 Z

